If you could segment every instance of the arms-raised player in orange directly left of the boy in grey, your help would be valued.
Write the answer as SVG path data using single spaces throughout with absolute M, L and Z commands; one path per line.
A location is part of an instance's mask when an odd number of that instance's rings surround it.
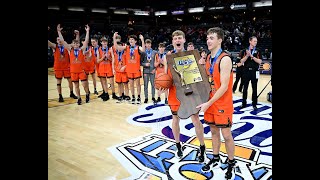
M 113 34 L 113 40 L 115 41 L 116 36 L 118 35 L 118 32 L 115 32 Z M 116 50 L 118 51 L 124 51 L 125 54 L 125 60 L 126 60 L 126 72 L 128 75 L 129 79 L 129 85 L 130 85 L 130 90 L 131 90 L 131 95 L 132 95 L 132 104 L 136 103 L 136 98 L 135 98 L 135 93 L 134 93 L 134 82 L 136 83 L 137 86 L 137 104 L 141 104 L 141 85 L 140 85 L 140 78 L 141 78 L 141 69 L 140 69 L 140 62 L 141 62 L 141 57 L 140 54 L 141 52 L 145 52 L 145 44 L 144 44 L 144 38 L 140 34 L 139 38 L 141 40 L 142 45 L 139 46 L 137 45 L 137 36 L 136 35 L 130 35 L 129 36 L 129 43 L 130 46 L 127 45 L 119 45 L 115 43 Z

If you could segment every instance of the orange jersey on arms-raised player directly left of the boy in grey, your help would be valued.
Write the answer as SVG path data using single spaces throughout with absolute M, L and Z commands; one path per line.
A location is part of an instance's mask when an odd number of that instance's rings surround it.
M 126 72 L 127 73 L 138 73 L 140 72 L 140 54 L 139 46 L 135 46 L 133 52 L 130 52 L 130 46 L 125 49 L 125 60 L 126 60 Z

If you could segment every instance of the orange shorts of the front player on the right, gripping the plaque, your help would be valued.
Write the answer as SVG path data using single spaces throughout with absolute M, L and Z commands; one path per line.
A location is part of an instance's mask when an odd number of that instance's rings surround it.
M 209 125 L 215 125 L 218 128 L 225 128 L 232 126 L 232 114 L 212 114 L 204 113 L 204 122 Z

